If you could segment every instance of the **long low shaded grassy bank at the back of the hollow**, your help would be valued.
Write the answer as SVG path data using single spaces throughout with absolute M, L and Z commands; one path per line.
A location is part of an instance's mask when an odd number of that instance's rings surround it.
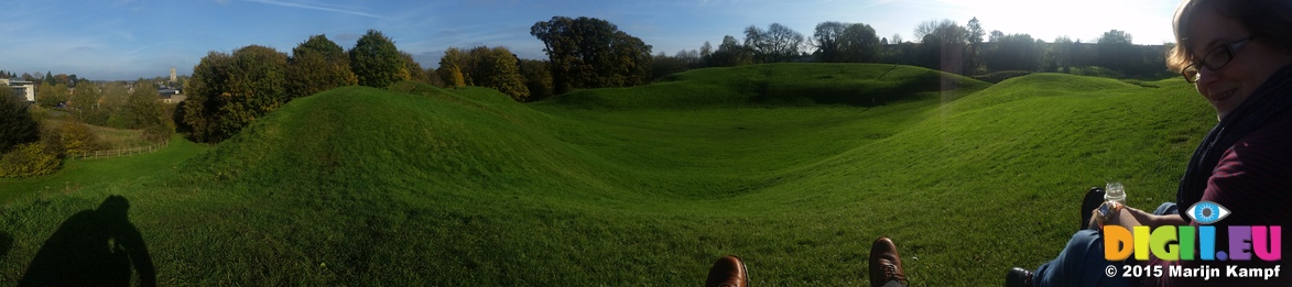
M 547 104 L 584 108 L 696 108 L 953 100 L 988 84 L 894 64 L 779 63 L 703 68 L 627 89 L 579 90 Z

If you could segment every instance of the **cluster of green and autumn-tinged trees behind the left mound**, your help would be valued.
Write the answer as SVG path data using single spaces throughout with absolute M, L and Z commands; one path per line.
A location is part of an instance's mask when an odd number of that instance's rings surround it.
M 189 98 L 174 121 L 177 131 L 205 143 L 227 139 L 287 102 L 314 93 L 348 85 L 386 88 L 404 80 L 430 82 L 412 55 L 376 30 L 368 30 L 350 50 L 315 35 L 291 55 L 261 45 L 211 51 L 191 77 Z

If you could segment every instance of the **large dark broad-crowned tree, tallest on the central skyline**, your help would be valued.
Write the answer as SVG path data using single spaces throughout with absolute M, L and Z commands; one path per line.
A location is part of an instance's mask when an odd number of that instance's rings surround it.
M 552 17 L 530 27 L 548 54 L 554 93 L 650 81 L 651 46 L 597 18 Z

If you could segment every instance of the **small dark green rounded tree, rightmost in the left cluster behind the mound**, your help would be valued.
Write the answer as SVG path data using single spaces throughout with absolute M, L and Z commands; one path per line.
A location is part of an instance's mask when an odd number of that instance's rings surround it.
M 350 49 L 350 69 L 359 85 L 373 88 L 406 80 L 408 73 L 395 42 L 376 30 L 368 30 Z

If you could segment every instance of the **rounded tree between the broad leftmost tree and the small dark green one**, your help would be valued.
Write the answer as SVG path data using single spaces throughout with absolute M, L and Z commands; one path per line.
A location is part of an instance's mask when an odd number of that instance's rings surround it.
M 287 94 L 300 98 L 331 90 L 337 86 L 357 85 L 358 76 L 350 71 L 350 57 L 345 49 L 314 35 L 292 49 L 287 60 Z

